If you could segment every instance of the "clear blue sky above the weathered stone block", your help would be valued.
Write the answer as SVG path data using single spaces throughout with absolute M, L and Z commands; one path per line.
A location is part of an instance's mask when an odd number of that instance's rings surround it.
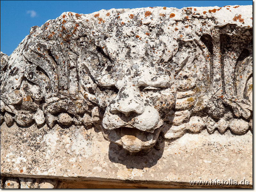
M 41 26 L 63 12 L 92 13 L 101 9 L 139 7 L 201 7 L 252 5 L 252 1 L 1 1 L 1 51 L 10 55 L 29 34 L 32 26 Z

